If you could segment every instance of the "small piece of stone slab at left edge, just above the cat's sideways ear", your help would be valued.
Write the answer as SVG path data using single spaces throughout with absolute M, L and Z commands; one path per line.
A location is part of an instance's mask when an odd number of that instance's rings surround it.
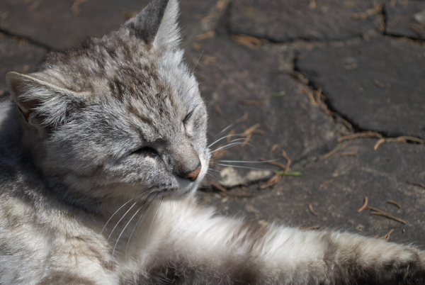
M 42 47 L 0 34 L 0 97 L 6 91 L 7 72 L 33 72 L 44 55 Z

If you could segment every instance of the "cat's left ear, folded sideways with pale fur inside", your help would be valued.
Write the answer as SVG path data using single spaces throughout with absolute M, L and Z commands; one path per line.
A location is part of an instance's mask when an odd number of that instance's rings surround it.
M 6 84 L 24 120 L 35 128 L 52 130 L 84 104 L 81 94 L 31 75 L 8 72 Z

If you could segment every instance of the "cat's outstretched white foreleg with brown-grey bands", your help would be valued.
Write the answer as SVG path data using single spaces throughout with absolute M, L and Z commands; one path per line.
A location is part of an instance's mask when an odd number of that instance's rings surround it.
M 162 240 L 154 251 L 156 262 L 149 267 L 149 274 L 159 279 L 220 284 L 425 284 L 425 253 L 414 247 L 215 216 L 193 201 L 170 203 L 162 210 Z

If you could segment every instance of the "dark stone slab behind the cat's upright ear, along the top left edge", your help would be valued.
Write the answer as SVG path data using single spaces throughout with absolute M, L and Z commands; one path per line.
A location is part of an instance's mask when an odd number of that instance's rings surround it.
M 72 47 L 89 36 L 102 36 L 141 11 L 150 0 L 7 0 L 0 1 L 0 28 L 54 49 Z M 208 11 L 212 0 L 181 1 L 181 26 Z

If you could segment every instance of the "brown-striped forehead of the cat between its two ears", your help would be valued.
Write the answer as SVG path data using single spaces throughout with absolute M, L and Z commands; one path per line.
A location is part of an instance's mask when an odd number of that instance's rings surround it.
M 50 80 L 66 89 L 154 106 L 159 98 L 176 103 L 181 94 L 196 95 L 196 80 L 181 59 L 181 50 L 152 52 L 120 31 L 91 39 L 81 49 L 52 52 L 45 67 Z

